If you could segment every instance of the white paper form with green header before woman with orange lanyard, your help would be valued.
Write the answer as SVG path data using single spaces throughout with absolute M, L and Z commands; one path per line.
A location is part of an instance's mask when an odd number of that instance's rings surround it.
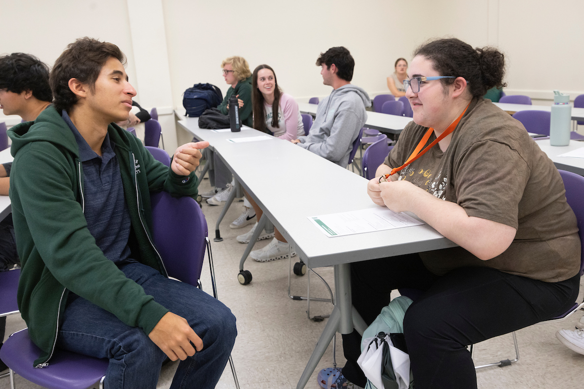
M 328 237 L 423 225 L 423 222 L 406 213 L 395 213 L 381 206 L 360 211 L 308 216 L 308 219 Z

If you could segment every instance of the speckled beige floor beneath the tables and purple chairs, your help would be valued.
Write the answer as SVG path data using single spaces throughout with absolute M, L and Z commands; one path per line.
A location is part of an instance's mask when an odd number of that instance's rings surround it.
M 208 180 L 204 180 L 200 185 L 200 190 L 207 191 L 208 188 Z M 221 235 L 224 240 L 219 243 L 211 242 L 219 298 L 231 308 L 238 320 L 239 334 L 232 357 L 239 384 L 242 389 L 296 388 L 326 320 L 320 323 L 308 320 L 307 303 L 291 300 L 288 297 L 288 260 L 260 263 L 250 259 L 245 262 L 245 268 L 252 272 L 253 281 L 246 286 L 239 284 L 237 281 L 239 259 L 245 246 L 237 243 L 235 237 L 247 232 L 251 226 L 239 230 L 232 230 L 228 226 L 241 211 L 241 202 L 231 206 L 221 224 Z M 221 212 L 221 207 L 204 203 L 203 212 L 207 217 L 210 235 L 213 237 L 215 222 Z M 267 241 L 262 241 L 257 243 L 256 247 L 263 247 L 266 244 Z M 293 259 L 295 260 L 296 257 Z M 333 288 L 332 268 L 322 268 L 317 271 Z M 202 281 L 204 290 L 210 292 L 208 273 L 206 262 Z M 293 275 L 291 282 L 292 293 L 305 296 L 307 276 Z M 311 295 L 326 297 L 327 293 L 322 282 L 316 276 L 312 276 Z M 582 291 L 580 299 L 582 299 Z M 325 315 L 331 310 L 331 304 L 317 302 L 311 303 L 310 313 L 311 316 Z M 580 316 L 576 313 L 575 316 L 562 323 L 533 325 L 517 331 L 520 346 L 519 362 L 505 368 L 494 367 L 478 372 L 478 387 L 481 389 L 582 388 L 584 386 L 584 355 L 565 348 L 555 338 L 555 331 L 559 328 L 573 328 Z M 429 317 L 428 320 L 432 318 Z M 25 323 L 22 319 L 16 316 L 9 317 L 6 334 L 23 327 Z M 510 335 L 505 335 L 477 345 L 475 363 L 488 363 L 512 356 L 512 338 Z M 336 362 L 339 366 L 343 366 L 345 362 L 340 336 L 338 336 L 336 347 Z M 332 346 L 329 346 L 318 369 L 330 367 L 332 363 Z M 175 369 L 176 363 L 162 369 L 158 383 L 159 389 L 170 387 Z M 307 388 L 319 388 L 316 374 L 315 372 L 312 375 Z M 20 377 L 17 377 L 16 383 L 19 389 L 40 388 Z M 0 379 L 0 389 L 9 387 L 8 379 Z M 226 367 L 217 387 L 221 389 L 235 387 L 229 366 Z

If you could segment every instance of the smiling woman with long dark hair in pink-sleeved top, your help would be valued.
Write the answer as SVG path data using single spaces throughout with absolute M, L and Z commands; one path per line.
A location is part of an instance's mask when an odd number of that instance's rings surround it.
M 291 141 L 298 136 L 304 135 L 304 125 L 302 117 L 298 110 L 298 103 L 290 94 L 282 93 L 276 79 L 274 69 L 268 65 L 259 65 L 253 71 L 252 75 L 252 106 L 253 106 L 253 128 L 259 131 L 267 132 L 280 139 Z M 262 217 L 262 209 L 255 204 L 253 199 L 245 194 L 245 197 L 251 203 L 257 219 Z M 245 207 L 244 213 L 239 216 L 241 223 L 249 220 L 248 213 L 253 212 Z M 252 216 L 253 217 L 253 216 Z M 238 220 L 235 220 L 237 222 Z M 234 223 L 235 223 L 234 222 Z M 249 243 L 253 232 L 258 223 L 253 225 L 252 229 L 237 237 L 241 243 Z M 288 255 L 294 257 L 296 253 L 291 250 L 290 244 L 274 228 L 274 239 L 266 247 L 249 253 L 249 256 L 259 262 L 268 262 L 288 258 Z M 258 240 L 271 237 L 265 230 L 262 231 Z

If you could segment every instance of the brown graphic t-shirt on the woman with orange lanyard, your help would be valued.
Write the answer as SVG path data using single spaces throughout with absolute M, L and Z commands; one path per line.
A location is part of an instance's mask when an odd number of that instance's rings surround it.
M 408 124 L 385 164 L 404 164 L 426 131 Z M 432 134 L 427 144 L 434 139 Z M 399 180 L 456 202 L 468 216 L 517 229 L 511 246 L 488 261 L 460 247 L 420 253 L 435 274 L 463 266 L 491 267 L 547 282 L 578 274 L 578 226 L 558 170 L 523 125 L 491 101 L 473 100 L 446 151 L 435 145 L 399 171 Z

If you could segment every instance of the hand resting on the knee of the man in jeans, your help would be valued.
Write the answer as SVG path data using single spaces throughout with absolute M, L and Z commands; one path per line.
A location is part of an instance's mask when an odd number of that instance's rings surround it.
M 172 312 L 162 316 L 154 330 L 148 334 L 148 337 L 171 360 L 185 360 L 187 356 L 194 355 L 195 348 L 197 351 L 203 349 L 203 341 L 190 328 L 185 318 Z

